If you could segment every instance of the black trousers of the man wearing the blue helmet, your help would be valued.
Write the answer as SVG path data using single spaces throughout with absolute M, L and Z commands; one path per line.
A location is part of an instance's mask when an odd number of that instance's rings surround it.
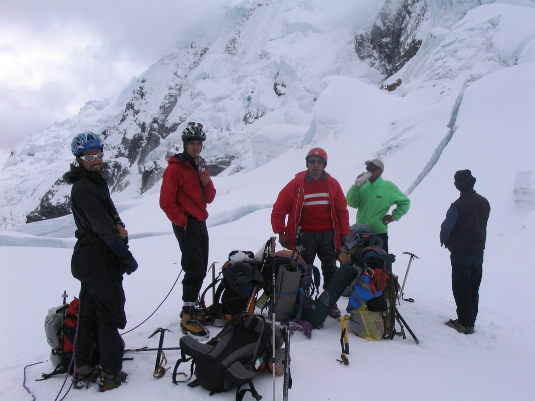
M 118 329 L 126 326 L 125 292 L 119 260 L 110 251 L 74 251 L 71 271 L 80 280 L 82 307 L 75 349 L 77 367 L 91 364 L 91 351 L 98 333 L 101 367 L 109 374 L 123 368 L 123 340 Z

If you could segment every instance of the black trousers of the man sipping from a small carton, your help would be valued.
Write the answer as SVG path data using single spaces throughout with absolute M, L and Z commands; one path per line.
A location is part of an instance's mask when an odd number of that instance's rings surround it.
M 208 229 L 206 222 L 188 216 L 186 230 L 173 224 L 182 252 L 181 265 L 184 269 L 182 300 L 196 302 L 208 268 Z

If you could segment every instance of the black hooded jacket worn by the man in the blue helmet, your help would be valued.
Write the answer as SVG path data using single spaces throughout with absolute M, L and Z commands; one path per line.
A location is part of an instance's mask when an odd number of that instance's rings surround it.
M 110 197 L 108 184 L 102 175 L 71 165 L 71 171 L 64 179 L 72 183 L 71 202 L 74 222 L 78 228 L 74 233 L 79 251 L 110 250 L 109 245 L 117 241 L 119 214 Z

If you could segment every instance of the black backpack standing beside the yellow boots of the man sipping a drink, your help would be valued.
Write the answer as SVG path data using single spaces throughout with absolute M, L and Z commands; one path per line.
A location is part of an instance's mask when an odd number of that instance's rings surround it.
M 205 315 L 205 322 L 215 319 L 227 322 L 233 316 L 246 311 L 247 303 L 256 289 L 264 286 L 262 262 L 254 260 L 254 253 L 247 251 L 232 251 L 228 260 L 221 267 L 218 275 L 201 295 L 201 309 Z M 218 285 L 219 284 L 219 285 Z M 217 287 L 212 305 L 206 307 L 205 295 L 210 288 Z

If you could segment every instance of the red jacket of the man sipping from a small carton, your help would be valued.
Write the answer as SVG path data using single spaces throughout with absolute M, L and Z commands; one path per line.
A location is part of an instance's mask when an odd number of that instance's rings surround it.
M 160 207 L 167 218 L 179 227 L 186 225 L 188 215 L 198 221 L 205 221 L 208 218 L 206 205 L 216 197 L 212 181 L 203 187 L 197 168 L 189 161 L 184 162 L 171 156 L 167 163 L 169 165 L 164 171 L 160 190 Z

